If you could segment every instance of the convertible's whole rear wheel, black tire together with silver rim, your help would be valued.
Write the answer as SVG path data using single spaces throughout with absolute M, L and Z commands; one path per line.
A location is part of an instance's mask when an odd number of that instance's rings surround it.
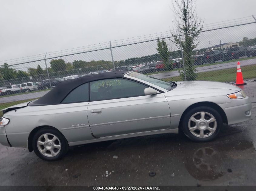
M 45 135 L 47 135 L 47 142 Z M 56 137 L 56 140 L 51 142 L 54 137 Z M 39 140 L 41 141 L 40 143 L 38 143 Z M 53 145 L 56 145 L 56 148 L 53 148 Z M 48 146 L 48 148 L 46 148 L 46 146 Z M 64 157 L 68 152 L 69 145 L 66 138 L 60 132 L 55 129 L 45 127 L 35 133 L 32 140 L 32 148 L 39 158 L 45 161 L 56 161 Z M 45 154 L 43 154 L 44 149 L 46 149 Z

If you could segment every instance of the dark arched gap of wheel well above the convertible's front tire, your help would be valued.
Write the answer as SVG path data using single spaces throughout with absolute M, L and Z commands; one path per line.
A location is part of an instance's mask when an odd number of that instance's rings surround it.
M 221 115 L 221 118 L 222 118 L 222 121 L 223 123 L 226 123 L 228 124 L 228 118 L 226 116 L 226 113 L 224 112 L 224 110 L 218 106 L 218 104 L 216 103 L 213 103 L 213 102 L 208 102 L 208 101 L 204 101 L 204 102 L 198 102 L 198 103 L 194 103 L 192 104 L 191 106 L 189 106 L 181 115 L 181 119 L 180 119 L 180 122 L 179 122 L 179 128 L 181 127 L 181 122 L 183 120 L 183 117 L 185 116 L 185 113 L 187 113 L 189 110 L 191 110 L 192 108 L 195 108 L 195 107 L 200 107 L 200 106 L 206 106 L 206 107 L 211 107 L 213 109 L 215 109 L 216 111 L 218 111 Z

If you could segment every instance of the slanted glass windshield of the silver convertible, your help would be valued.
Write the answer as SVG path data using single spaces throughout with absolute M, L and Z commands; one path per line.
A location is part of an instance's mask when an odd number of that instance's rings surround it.
M 162 80 L 159 80 L 157 78 L 153 78 L 151 76 L 143 75 L 143 74 L 140 74 L 140 73 L 137 73 L 137 72 L 131 72 L 130 74 L 128 74 L 128 76 L 138 78 L 140 80 L 147 81 L 151 84 L 155 84 L 155 85 L 157 85 L 161 88 L 164 88 L 168 91 L 170 91 L 171 88 L 172 88 L 172 84 L 170 82 L 162 81 Z

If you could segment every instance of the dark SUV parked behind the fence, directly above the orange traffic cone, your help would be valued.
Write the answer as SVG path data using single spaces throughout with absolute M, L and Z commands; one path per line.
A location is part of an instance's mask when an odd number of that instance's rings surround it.
M 250 57 L 251 55 L 252 55 L 251 50 L 247 50 L 244 46 L 236 46 L 228 49 L 226 54 L 226 59 L 227 60 L 239 59 L 239 57 L 241 56 Z

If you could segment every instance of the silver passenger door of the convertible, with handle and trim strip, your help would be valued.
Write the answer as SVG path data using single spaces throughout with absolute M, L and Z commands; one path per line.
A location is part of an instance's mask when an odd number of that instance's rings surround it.
M 95 110 L 101 112 L 94 114 Z M 92 101 L 87 116 L 96 137 L 168 129 L 171 120 L 170 108 L 162 93 Z

